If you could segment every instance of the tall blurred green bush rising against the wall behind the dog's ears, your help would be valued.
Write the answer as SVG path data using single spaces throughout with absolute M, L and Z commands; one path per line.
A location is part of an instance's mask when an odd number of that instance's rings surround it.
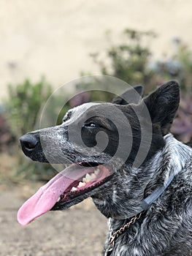
M 120 78 L 132 86 L 142 83 L 150 87 L 150 80 L 155 73 L 148 67 L 151 58 L 148 42 L 155 34 L 152 31 L 126 29 L 123 37 L 124 42 L 106 50 L 104 60 L 99 54 L 93 54 L 93 60 L 99 64 L 104 75 Z

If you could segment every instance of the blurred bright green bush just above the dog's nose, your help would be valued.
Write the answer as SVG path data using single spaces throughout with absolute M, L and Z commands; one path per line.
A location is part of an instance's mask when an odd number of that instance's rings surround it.
M 52 93 L 45 79 L 31 83 L 26 79 L 17 86 L 9 85 L 9 99 L 5 102 L 12 132 L 17 137 L 34 129 L 42 105 Z

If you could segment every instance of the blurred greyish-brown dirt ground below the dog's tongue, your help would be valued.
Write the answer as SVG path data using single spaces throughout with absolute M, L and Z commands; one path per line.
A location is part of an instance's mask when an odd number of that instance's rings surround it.
M 23 189 L 0 190 L 1 256 L 101 255 L 107 221 L 85 200 L 66 211 L 54 211 L 22 227 L 16 220 Z

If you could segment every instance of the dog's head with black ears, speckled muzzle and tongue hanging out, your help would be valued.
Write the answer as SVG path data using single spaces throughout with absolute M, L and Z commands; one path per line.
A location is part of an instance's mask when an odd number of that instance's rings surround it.
M 132 90 L 142 93 L 141 86 Z M 137 169 L 142 170 L 164 147 L 164 135 L 179 105 L 180 89 L 171 81 L 141 102 L 138 97 L 131 97 L 134 102 L 126 100 L 132 90 L 111 103 L 80 105 L 66 113 L 63 124 L 20 138 L 23 152 L 34 161 L 72 163 L 20 208 L 21 224 L 28 224 L 50 209 L 69 208 L 88 196 L 93 197 L 107 217 L 125 211 L 127 205 L 120 197 L 122 193 L 130 208 L 134 208 L 131 204 L 134 193 L 138 200 L 142 199 L 143 194 L 137 195 L 132 189 L 141 182 L 146 187 L 150 176 L 147 173 L 143 173 L 144 178 L 139 177 L 141 173 L 137 176 Z

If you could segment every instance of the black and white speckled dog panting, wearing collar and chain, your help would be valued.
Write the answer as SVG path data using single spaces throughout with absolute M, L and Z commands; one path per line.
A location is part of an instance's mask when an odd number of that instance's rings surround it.
M 169 133 L 180 86 L 169 81 L 133 102 L 132 92 L 72 108 L 63 124 L 20 138 L 32 160 L 71 164 L 23 204 L 18 222 L 92 197 L 109 219 L 104 255 L 190 256 L 192 149 Z

